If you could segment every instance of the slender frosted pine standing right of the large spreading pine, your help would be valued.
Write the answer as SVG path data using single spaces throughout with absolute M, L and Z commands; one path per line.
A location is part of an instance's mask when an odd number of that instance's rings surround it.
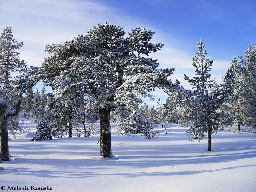
M 220 87 L 220 92 L 210 95 L 209 89 L 213 87 L 213 84 L 212 80 L 210 80 L 211 75 L 208 72 L 211 69 L 213 60 L 209 60 L 209 57 L 205 58 L 206 49 L 203 49 L 204 43 L 200 40 L 198 43 L 198 52 L 196 52 L 198 57 L 192 57 L 196 77 L 190 79 L 188 76 L 184 75 L 188 84 L 192 85 L 193 89 L 195 89 L 193 91 L 194 97 L 186 99 L 193 120 L 190 129 L 188 129 L 186 133 L 193 135 L 191 141 L 197 139 L 200 141 L 207 133 L 208 151 L 212 151 L 211 134 L 216 134 L 220 126 L 227 125 L 225 122 L 221 121 L 224 112 L 218 112 L 217 110 L 232 94 L 231 83 L 233 74 L 228 70 L 224 77 L 224 84 Z

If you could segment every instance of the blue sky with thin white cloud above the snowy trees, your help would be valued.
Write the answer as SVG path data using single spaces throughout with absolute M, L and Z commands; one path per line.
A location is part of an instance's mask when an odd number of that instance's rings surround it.
M 46 44 L 86 34 L 106 21 L 124 27 L 127 34 L 138 26 L 155 31 L 152 42 L 164 47 L 150 57 L 158 59 L 159 68 L 174 67 L 172 79 L 178 78 L 185 88 L 184 73 L 194 74 L 191 56 L 200 39 L 214 60 L 212 79 L 219 84 L 233 56 L 244 56 L 248 45 L 256 44 L 256 0 L 0 0 L 0 29 L 11 25 L 14 39 L 24 41 L 20 59 L 28 66 L 42 64 L 48 56 Z M 153 94 L 162 102 L 166 99 L 162 91 Z

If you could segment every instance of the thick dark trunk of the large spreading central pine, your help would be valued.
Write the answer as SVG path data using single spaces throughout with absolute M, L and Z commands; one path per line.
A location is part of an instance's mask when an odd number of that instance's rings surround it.
M 112 157 L 111 150 L 111 127 L 110 127 L 111 108 L 99 108 L 100 116 L 100 156 Z

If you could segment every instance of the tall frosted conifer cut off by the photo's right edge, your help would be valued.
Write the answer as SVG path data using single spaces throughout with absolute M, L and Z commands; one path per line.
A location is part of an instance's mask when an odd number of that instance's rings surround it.
M 256 46 L 249 45 L 245 57 L 239 57 L 241 66 L 241 92 L 244 101 L 244 122 L 255 133 L 256 129 Z M 250 130 L 249 130 L 250 131 Z

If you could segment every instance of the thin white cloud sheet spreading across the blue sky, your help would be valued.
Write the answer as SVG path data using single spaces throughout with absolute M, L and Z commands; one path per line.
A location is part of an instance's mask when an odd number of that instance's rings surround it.
M 184 80 L 184 73 L 193 77 L 191 56 L 195 55 L 197 45 L 192 46 L 185 41 L 179 42 L 171 34 L 152 27 L 154 24 L 151 25 L 150 21 L 136 15 L 125 15 L 116 8 L 109 7 L 107 3 L 82 0 L 2 1 L 0 18 L 2 29 L 10 24 L 13 27 L 14 39 L 17 42 L 24 41 L 24 46 L 20 50 L 20 59 L 25 59 L 28 66 L 39 66 L 44 61 L 48 56 L 44 52 L 46 44 L 59 44 L 78 34 L 86 34 L 86 31 L 98 23 L 107 21 L 109 24 L 117 24 L 124 27 L 126 32 L 131 32 L 138 26 L 155 31 L 152 42 L 163 43 L 164 47 L 152 53 L 150 57 L 158 59 L 159 68 L 175 68 L 171 76 L 172 80 L 178 78 L 184 88 L 191 87 Z M 184 44 L 184 50 L 175 48 L 173 42 Z M 195 49 L 190 51 L 188 47 Z M 218 83 L 221 83 L 221 76 L 225 75 L 228 66 L 229 61 L 214 60 L 212 78 L 217 77 Z M 153 94 L 165 95 L 163 91 Z

